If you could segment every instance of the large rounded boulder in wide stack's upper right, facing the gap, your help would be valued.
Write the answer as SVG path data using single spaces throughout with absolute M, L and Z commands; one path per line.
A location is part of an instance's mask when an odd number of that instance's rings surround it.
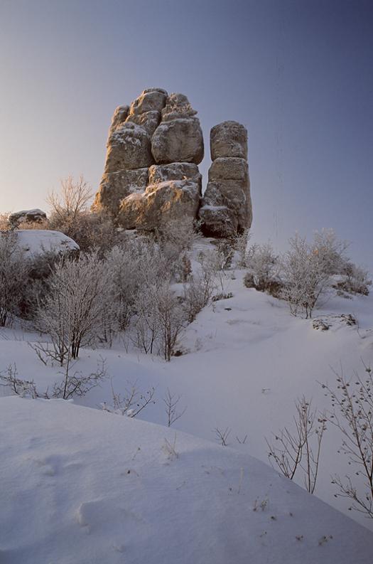
M 161 122 L 151 139 L 151 151 L 158 164 L 200 164 L 204 151 L 200 120 L 188 117 Z

